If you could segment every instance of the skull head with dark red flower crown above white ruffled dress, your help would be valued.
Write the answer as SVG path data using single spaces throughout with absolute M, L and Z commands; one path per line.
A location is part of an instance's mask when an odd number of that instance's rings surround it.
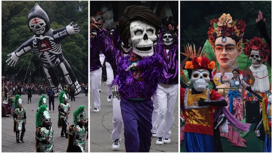
M 268 44 L 258 37 L 247 40 L 244 44 L 243 52 L 251 60 L 251 66 L 259 67 L 266 62 L 269 55 Z

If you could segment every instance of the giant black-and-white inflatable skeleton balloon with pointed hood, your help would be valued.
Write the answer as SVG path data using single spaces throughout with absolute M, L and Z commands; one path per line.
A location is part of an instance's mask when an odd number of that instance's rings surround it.
M 28 14 L 28 27 L 34 33 L 33 37 L 24 42 L 15 52 L 9 54 L 6 60 L 8 65 L 15 66 L 18 59 L 34 49 L 40 59 L 44 75 L 57 97 L 63 90 L 53 67 L 58 67 L 68 84 L 76 86 L 75 95 L 80 93 L 80 85 L 75 75 L 63 56 L 61 41 L 74 33 L 80 33 L 78 24 L 71 22 L 69 25 L 53 30 L 50 28 L 49 18 L 46 12 L 36 3 Z

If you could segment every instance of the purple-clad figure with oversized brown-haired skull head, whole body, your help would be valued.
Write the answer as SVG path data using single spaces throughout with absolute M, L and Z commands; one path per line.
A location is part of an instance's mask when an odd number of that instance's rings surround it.
M 133 48 L 128 56 L 115 57 L 121 60 L 117 63 L 112 83 L 115 97 L 120 98 L 126 152 L 150 150 L 153 111 L 151 97 L 156 93 L 158 77 L 162 73 L 162 58 L 154 53 L 156 32 L 161 24 L 156 14 L 143 6 L 128 6 L 119 18 L 121 40 L 125 48 Z

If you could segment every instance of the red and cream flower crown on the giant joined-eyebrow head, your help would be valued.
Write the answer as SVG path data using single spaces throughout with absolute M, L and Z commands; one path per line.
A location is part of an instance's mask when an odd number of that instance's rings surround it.
M 243 34 L 245 31 L 245 21 L 232 20 L 230 14 L 223 14 L 218 20 L 210 20 L 208 28 L 208 41 L 214 49 L 214 42 L 217 37 L 231 37 L 237 43 L 239 49 L 243 43 Z M 223 41 L 222 41 L 223 42 Z

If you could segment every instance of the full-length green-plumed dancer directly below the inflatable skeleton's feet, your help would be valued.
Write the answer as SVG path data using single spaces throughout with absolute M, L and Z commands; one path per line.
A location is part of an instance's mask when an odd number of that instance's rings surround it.
M 65 94 L 65 92 L 61 92 L 59 97 L 59 116 L 58 116 L 58 128 L 62 128 L 61 131 L 61 137 L 68 138 L 68 131 L 67 131 L 67 120 L 68 120 L 68 115 L 70 113 L 70 105 L 67 103 L 68 98 Z M 64 136 L 65 134 L 65 136 Z

